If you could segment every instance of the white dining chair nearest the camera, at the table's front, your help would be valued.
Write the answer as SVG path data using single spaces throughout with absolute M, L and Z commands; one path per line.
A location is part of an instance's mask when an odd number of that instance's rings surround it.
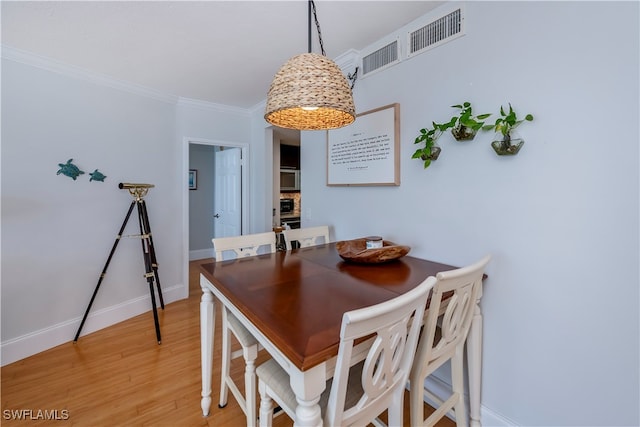
M 377 417 L 385 410 L 389 425 L 402 425 L 405 384 L 435 281 L 429 277 L 392 300 L 344 313 L 335 370 L 327 372 L 333 378 L 319 402 L 325 426 L 379 423 Z M 354 345 L 363 337 L 370 338 Z M 260 426 L 271 426 L 273 401 L 295 419 L 296 397 L 284 369 L 271 359 L 258 366 L 256 373 Z

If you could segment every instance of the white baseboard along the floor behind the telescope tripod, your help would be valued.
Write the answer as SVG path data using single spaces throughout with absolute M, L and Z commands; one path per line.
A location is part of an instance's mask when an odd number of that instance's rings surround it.
M 183 285 L 175 285 L 162 289 L 162 297 L 165 305 L 184 299 L 187 295 L 188 292 L 185 293 L 185 287 Z M 139 314 L 146 313 L 150 311 L 149 305 L 149 295 L 145 295 L 112 307 L 89 312 L 87 320 L 82 327 L 80 337 Z M 0 365 L 4 366 L 60 344 L 73 341 L 81 320 L 82 317 L 78 317 L 39 331 L 3 341 L 0 344 Z

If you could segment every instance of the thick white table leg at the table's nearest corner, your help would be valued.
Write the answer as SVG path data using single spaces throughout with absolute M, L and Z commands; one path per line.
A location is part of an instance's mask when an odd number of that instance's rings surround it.
M 297 370 L 296 370 L 297 371 Z M 326 388 L 326 368 L 324 363 L 305 372 L 290 372 L 290 384 L 296 394 L 296 419 L 294 427 L 321 427 L 320 395 Z

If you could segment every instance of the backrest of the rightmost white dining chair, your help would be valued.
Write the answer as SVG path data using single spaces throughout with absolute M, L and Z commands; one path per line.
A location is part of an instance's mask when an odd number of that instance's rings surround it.
M 421 369 L 424 375 L 428 375 L 449 360 L 456 350 L 462 351 L 473 320 L 484 269 L 490 259 L 491 256 L 487 255 L 474 264 L 436 275 L 437 283 L 424 316 L 414 369 Z M 441 314 L 443 308 L 444 314 Z

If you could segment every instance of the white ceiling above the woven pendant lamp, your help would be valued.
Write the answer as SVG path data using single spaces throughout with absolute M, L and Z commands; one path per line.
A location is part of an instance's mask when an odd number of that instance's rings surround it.
M 316 0 L 328 57 L 360 50 L 443 2 Z M 2 44 L 166 94 L 240 108 L 307 52 L 307 2 L 6 1 Z M 314 48 L 319 52 L 313 31 Z

